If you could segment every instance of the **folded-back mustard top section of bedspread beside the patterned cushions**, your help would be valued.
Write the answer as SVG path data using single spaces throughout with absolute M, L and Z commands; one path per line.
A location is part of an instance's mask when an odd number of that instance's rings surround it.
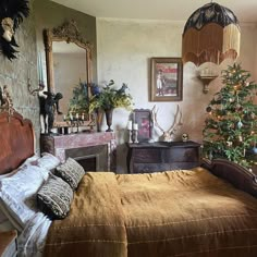
M 87 173 L 71 211 L 50 227 L 45 255 L 125 257 L 126 231 L 115 174 Z

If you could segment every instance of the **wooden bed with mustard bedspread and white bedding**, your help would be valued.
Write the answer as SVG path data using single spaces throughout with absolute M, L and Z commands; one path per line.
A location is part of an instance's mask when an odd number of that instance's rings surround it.
M 0 136 L 9 149 L 0 154 L 0 197 L 9 194 L 7 178 L 27 169 L 36 194 L 60 162 L 34 155 L 32 124 L 17 113 L 0 114 Z M 19 231 L 20 256 L 257 256 L 256 176 L 225 160 L 151 174 L 86 172 L 63 219 L 49 219 L 29 194 L 23 217 L 2 213 Z

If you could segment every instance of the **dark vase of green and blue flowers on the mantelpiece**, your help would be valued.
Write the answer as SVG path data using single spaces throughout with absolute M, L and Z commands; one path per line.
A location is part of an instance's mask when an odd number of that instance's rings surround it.
M 118 107 L 131 109 L 132 107 L 132 96 L 126 93 L 126 89 L 127 85 L 125 83 L 123 83 L 119 89 L 115 89 L 113 79 L 102 88 L 99 88 L 96 85 L 91 87 L 93 96 L 89 99 L 89 113 L 93 111 L 105 111 L 108 125 L 107 132 L 112 131 L 113 109 Z

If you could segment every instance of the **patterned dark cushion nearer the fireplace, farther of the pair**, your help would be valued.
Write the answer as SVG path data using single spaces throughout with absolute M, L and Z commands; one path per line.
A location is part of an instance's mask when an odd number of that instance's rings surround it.
M 62 178 L 75 191 L 83 175 L 85 175 L 85 170 L 78 162 L 69 157 L 63 164 L 57 167 L 54 174 Z

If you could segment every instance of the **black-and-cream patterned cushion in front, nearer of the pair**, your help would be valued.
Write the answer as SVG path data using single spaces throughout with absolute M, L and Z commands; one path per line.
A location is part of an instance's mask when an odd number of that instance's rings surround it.
M 73 199 L 71 186 L 62 179 L 51 175 L 37 193 L 38 207 L 51 219 L 68 216 Z

